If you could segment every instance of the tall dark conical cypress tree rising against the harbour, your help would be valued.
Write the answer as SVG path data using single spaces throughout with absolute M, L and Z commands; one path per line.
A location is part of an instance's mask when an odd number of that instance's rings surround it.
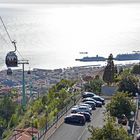
M 110 85 L 114 81 L 114 62 L 113 62 L 113 55 L 110 54 L 107 60 L 107 66 L 105 67 L 104 74 L 103 74 L 103 80 Z

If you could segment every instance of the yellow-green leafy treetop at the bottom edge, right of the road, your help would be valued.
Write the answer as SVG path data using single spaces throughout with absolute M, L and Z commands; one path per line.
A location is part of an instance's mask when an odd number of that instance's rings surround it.
M 91 137 L 88 140 L 132 140 L 127 131 L 115 123 L 114 119 L 108 117 L 103 128 L 89 127 Z

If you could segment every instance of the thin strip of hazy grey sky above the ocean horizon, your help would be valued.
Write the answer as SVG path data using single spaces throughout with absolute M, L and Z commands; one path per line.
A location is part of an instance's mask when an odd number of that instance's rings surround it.
M 140 0 L 0 0 L 2 3 L 100 3 L 100 2 L 139 2 Z

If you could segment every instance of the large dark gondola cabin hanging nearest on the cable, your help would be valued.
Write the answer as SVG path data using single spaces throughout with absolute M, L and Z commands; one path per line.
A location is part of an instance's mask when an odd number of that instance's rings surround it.
M 14 51 L 11 51 L 7 54 L 5 63 L 7 67 L 17 67 L 18 66 L 18 57 Z

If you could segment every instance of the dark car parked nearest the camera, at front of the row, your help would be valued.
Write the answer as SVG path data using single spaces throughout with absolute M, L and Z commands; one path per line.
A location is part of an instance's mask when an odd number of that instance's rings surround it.
M 74 123 L 84 125 L 86 122 L 85 116 L 82 114 L 70 114 L 64 118 L 65 123 Z

